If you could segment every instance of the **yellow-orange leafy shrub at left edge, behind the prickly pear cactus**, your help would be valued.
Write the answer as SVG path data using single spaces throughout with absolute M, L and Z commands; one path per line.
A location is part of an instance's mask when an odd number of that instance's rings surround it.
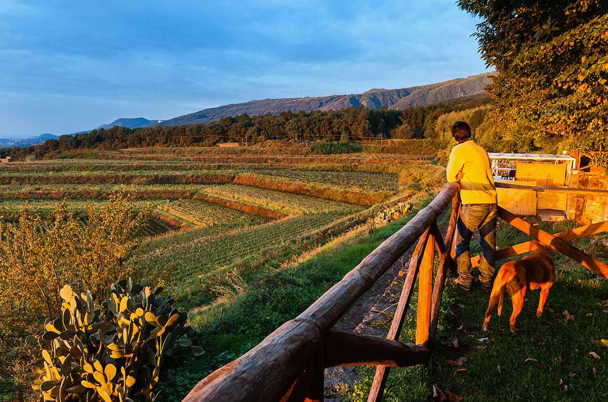
M 109 284 L 134 276 L 123 262 L 149 212 L 121 192 L 105 206 L 89 203 L 84 222 L 61 203 L 46 219 L 24 208 L 18 224 L 1 225 L 0 334 L 32 332 L 36 322 L 57 316 L 63 285 L 106 298 Z

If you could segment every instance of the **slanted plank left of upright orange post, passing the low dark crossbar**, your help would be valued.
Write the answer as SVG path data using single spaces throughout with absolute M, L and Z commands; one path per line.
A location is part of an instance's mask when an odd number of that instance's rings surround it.
M 427 228 L 427 230 L 424 231 L 423 236 L 418 240 L 418 244 L 412 253 L 412 258 L 410 258 L 406 281 L 403 283 L 403 288 L 401 289 L 401 296 L 399 296 L 399 303 L 397 304 L 395 315 L 393 316 L 393 322 L 390 324 L 387 339 L 399 339 L 399 335 L 401 334 L 403 321 L 406 317 L 410 300 L 412 299 L 414 285 L 416 284 L 416 275 L 418 274 L 418 270 L 420 270 L 422 256 L 424 250 L 426 250 L 427 243 L 429 242 L 429 230 L 430 228 Z M 371 383 L 370 394 L 367 397 L 368 402 L 382 401 L 382 394 L 384 393 L 387 378 L 389 378 L 389 367 L 383 365 L 376 367 L 374 381 Z

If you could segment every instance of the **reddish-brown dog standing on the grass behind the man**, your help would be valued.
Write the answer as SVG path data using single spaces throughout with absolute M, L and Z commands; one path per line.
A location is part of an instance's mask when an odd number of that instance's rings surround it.
M 506 288 L 511 295 L 511 302 L 513 302 L 513 314 L 509 319 L 511 332 L 519 332 L 515 327 L 515 319 L 522 311 L 526 288 L 530 288 L 530 290 L 541 288 L 541 298 L 536 309 L 536 316 L 541 317 L 542 308 L 547 301 L 549 289 L 553 282 L 555 282 L 553 256 L 547 248 L 542 247 L 534 250 L 529 256 L 520 260 L 506 262 L 500 267 L 494 281 L 482 329 L 484 331 L 489 329 L 490 316 L 497 302 L 498 315 L 500 316 Z

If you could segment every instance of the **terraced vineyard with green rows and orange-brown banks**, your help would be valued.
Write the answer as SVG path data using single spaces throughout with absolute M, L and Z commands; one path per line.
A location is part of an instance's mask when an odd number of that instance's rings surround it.
M 188 307 L 212 302 L 214 285 L 229 271 L 252 278 L 363 225 L 379 213 L 371 206 L 398 194 L 401 169 L 430 164 L 377 150 L 313 155 L 308 145 L 286 143 L 55 157 L 0 165 L 3 220 L 18 224 L 26 202 L 44 215 L 61 200 L 86 219 L 89 203 L 130 192 L 137 208 L 148 205 L 153 213 L 127 264 L 159 274 Z

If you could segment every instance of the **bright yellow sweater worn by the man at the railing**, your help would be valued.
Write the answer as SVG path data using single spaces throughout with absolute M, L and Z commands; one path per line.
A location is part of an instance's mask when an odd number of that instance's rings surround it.
M 456 175 L 460 171 L 465 174 L 465 177 L 460 179 L 460 197 L 463 204 L 496 203 L 496 186 L 488 152 L 473 140 L 452 148 L 446 168 L 447 181 L 458 182 Z

